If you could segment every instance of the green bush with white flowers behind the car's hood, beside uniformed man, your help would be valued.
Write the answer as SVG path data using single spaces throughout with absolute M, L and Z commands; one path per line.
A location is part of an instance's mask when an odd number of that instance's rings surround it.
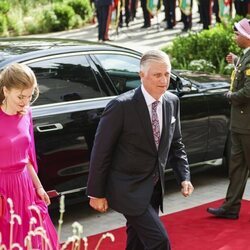
M 171 46 L 162 50 L 170 55 L 174 68 L 228 74 L 231 69 L 225 60 L 226 55 L 241 51 L 234 41 L 232 28 L 239 19 L 241 17 L 227 24 L 218 24 L 210 30 L 179 36 Z

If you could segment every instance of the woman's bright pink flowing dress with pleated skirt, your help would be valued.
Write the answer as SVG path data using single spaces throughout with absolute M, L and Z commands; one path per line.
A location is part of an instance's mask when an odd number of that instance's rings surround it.
M 57 233 L 48 214 L 46 204 L 39 198 L 34 189 L 32 179 L 26 168 L 31 162 L 37 171 L 35 145 L 31 111 L 25 115 L 8 115 L 0 108 L 0 193 L 11 198 L 14 212 L 22 219 L 22 224 L 14 224 L 13 243 L 18 243 L 24 249 L 24 238 L 28 234 L 30 218 L 36 213 L 28 209 L 36 205 L 42 215 L 42 226 L 46 230 L 52 249 L 58 249 Z M 10 211 L 0 218 L 2 244 L 10 248 Z M 40 226 L 39 222 L 33 229 Z M 32 249 L 42 249 L 40 237 L 32 238 Z

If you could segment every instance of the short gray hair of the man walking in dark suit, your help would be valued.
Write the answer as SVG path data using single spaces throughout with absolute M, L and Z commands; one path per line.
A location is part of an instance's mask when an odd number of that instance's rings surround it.
M 161 50 L 149 50 L 142 55 L 140 67 L 141 70 L 146 70 L 150 62 L 162 62 L 165 63 L 171 70 L 171 63 L 169 56 Z

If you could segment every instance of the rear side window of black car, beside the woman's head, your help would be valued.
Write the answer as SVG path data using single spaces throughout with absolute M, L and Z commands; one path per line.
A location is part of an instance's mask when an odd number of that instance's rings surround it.
M 56 57 L 28 64 L 35 72 L 40 96 L 34 105 L 103 96 L 87 58 Z

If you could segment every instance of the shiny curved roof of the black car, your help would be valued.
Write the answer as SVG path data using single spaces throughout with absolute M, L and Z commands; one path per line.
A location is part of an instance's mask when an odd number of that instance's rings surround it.
M 11 62 L 22 62 L 42 56 L 78 51 L 120 51 L 141 56 L 141 53 L 128 48 L 83 40 L 57 38 L 1 38 L 0 67 L 2 68 Z

